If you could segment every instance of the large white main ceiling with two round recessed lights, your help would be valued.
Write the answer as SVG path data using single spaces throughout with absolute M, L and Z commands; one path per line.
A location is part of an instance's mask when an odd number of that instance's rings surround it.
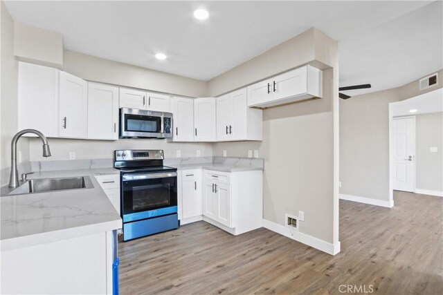
M 339 41 L 340 86 L 357 95 L 443 68 L 442 1 L 6 1 L 15 21 L 60 32 L 64 47 L 209 80 L 316 27 Z M 206 8 L 210 17 L 192 17 Z M 154 54 L 168 59 L 159 61 Z

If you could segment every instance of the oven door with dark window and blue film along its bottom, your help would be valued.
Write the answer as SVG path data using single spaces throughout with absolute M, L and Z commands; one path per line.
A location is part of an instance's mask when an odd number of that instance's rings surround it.
M 122 175 L 123 222 L 177 213 L 177 172 Z

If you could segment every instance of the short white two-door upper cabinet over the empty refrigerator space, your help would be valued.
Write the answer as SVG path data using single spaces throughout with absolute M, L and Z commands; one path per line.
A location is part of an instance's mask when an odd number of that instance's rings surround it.
M 248 106 L 267 108 L 322 97 L 323 73 L 302 66 L 248 86 Z

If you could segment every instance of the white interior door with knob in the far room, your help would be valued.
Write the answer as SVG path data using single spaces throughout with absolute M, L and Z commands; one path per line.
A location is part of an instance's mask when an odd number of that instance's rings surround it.
M 393 121 L 393 188 L 398 191 L 415 191 L 415 117 Z

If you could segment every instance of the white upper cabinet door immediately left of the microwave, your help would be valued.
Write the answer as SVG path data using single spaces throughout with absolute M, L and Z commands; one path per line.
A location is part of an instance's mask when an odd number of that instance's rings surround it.
M 118 140 L 118 87 L 88 83 L 88 138 Z

